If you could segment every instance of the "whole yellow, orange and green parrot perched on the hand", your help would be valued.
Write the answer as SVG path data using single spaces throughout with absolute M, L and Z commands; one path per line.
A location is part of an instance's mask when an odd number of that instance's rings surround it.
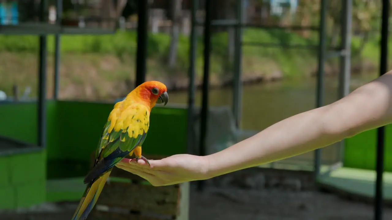
M 158 81 L 147 81 L 114 105 L 96 149 L 94 167 L 86 175 L 88 184 L 73 220 L 84 220 L 93 209 L 114 165 L 125 156 L 142 156 L 142 144 L 150 124 L 150 112 L 155 103 L 167 104 L 167 88 Z

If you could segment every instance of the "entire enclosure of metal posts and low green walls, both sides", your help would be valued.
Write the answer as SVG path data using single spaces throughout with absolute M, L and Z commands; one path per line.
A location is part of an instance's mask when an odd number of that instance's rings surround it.
M 42 1 L 45 2 L 45 1 Z M 145 80 L 145 60 L 147 48 L 147 10 L 148 1 L 140 1 L 139 19 L 138 23 L 138 61 L 136 84 Z M 232 26 L 236 29 L 236 59 L 235 59 L 235 75 L 233 80 L 233 106 L 232 112 L 236 121 L 238 130 L 240 129 L 241 116 L 241 47 L 243 46 L 274 46 L 264 42 L 243 42 L 241 40 L 241 32 L 246 23 L 243 23 L 242 16 L 244 14 L 244 0 L 238 0 L 237 20 L 222 21 L 211 19 L 211 1 L 205 2 L 205 22 L 196 20 L 196 10 L 199 6 L 199 1 L 192 1 L 192 30 L 191 30 L 191 50 L 190 50 L 190 67 L 189 67 L 189 107 L 185 108 L 171 108 L 156 107 L 152 110 L 151 120 L 155 123 L 151 124 L 149 131 L 149 138 L 145 141 L 145 152 L 154 155 L 172 155 L 176 153 L 185 153 L 191 151 L 191 144 L 195 139 L 200 140 L 200 154 L 205 153 L 205 142 L 208 120 L 208 84 L 209 84 L 209 50 L 211 49 L 210 34 L 211 26 L 224 25 Z M 316 107 L 322 106 L 323 103 L 323 79 L 324 79 L 324 62 L 325 59 L 338 56 L 341 57 L 341 71 L 340 71 L 340 97 L 348 94 L 349 70 L 350 70 L 350 14 L 351 14 L 351 0 L 342 1 L 344 15 L 344 24 L 342 31 L 342 45 L 338 51 L 329 51 L 325 44 L 325 10 L 326 0 L 321 0 L 321 17 L 319 27 L 308 27 L 319 31 L 319 45 L 314 45 L 313 49 L 319 52 L 319 68 L 317 80 L 317 103 Z M 42 4 L 44 5 L 44 4 Z M 41 5 L 41 20 L 44 21 L 45 7 Z M 57 7 L 57 10 L 60 7 Z M 144 9 L 144 10 L 143 10 Z M 60 13 L 59 11 L 58 14 Z M 80 22 L 78 20 L 78 22 Z M 71 22 L 72 23 L 72 22 Z M 75 22 L 73 22 L 75 23 Z M 0 157 L 0 168 L 4 169 L 8 179 L 1 179 L 2 189 L 0 191 L 0 205 L 1 208 L 15 208 L 38 204 L 44 201 L 59 201 L 59 200 L 78 200 L 84 191 L 84 186 L 80 182 L 80 177 L 85 175 L 89 164 L 89 155 L 96 147 L 96 141 L 102 132 L 102 124 L 106 120 L 113 103 L 86 103 L 75 101 L 46 101 L 46 35 L 58 34 L 57 39 L 60 39 L 59 34 L 68 33 L 108 33 L 113 32 L 114 29 L 102 30 L 102 28 L 75 28 L 67 29 L 66 22 L 56 22 L 55 24 L 35 23 L 33 29 L 29 29 L 28 25 L 1 25 L 0 32 L 3 34 L 40 34 L 40 90 L 38 102 L 30 103 L 1 103 L 0 115 L 9 115 L 0 124 L 0 135 L 9 138 L 25 141 L 31 144 L 25 144 L 24 149 L 27 151 L 14 151 L 9 148 L 2 148 L 6 150 L 7 154 Z M 32 25 L 32 24 L 29 24 Z M 38 25 L 38 26 L 37 26 Z M 201 132 L 200 137 L 194 136 L 194 115 L 196 112 L 195 100 L 195 48 L 196 48 L 196 25 L 204 25 L 204 47 L 205 47 L 205 67 L 203 77 L 203 105 L 201 108 Z M 260 28 L 287 28 L 295 29 L 299 27 L 260 27 Z M 68 30 L 68 31 L 67 31 Z M 71 31 L 70 31 L 71 30 Z M 58 57 L 59 40 L 56 40 L 56 54 Z M 299 48 L 301 45 L 294 45 L 294 48 Z M 57 59 L 57 66 L 59 60 Z M 58 71 L 55 77 L 58 85 Z M 58 94 L 58 87 L 55 87 Z M 56 94 L 55 93 L 55 94 Z M 88 115 L 88 117 L 82 117 Z M 176 121 L 176 123 L 172 123 Z M 165 124 L 165 130 L 160 129 L 160 125 Z M 11 126 L 10 126 L 11 125 Z M 88 125 L 88 126 L 87 126 Z M 187 130 L 185 129 L 187 128 Z M 385 132 L 390 132 L 390 126 L 387 126 Z M 34 135 L 37 134 L 37 135 Z M 176 142 L 170 143 L 170 148 L 162 146 L 161 140 L 163 137 L 176 137 Z M 389 135 L 386 135 L 389 136 Z M 70 139 L 69 137 L 73 137 Z M 77 140 L 77 141 L 75 141 Z M 15 141 L 14 141 L 15 142 Z M 77 143 L 77 146 L 76 144 Z M 368 195 L 372 197 L 373 188 L 372 182 L 374 177 L 374 166 L 376 159 L 375 155 L 376 130 L 363 132 L 355 137 L 345 141 L 345 148 L 342 154 L 341 167 L 338 166 L 321 166 L 321 150 L 315 151 L 314 157 L 314 172 L 315 177 L 319 182 L 328 186 L 334 186 L 342 190 L 348 190 L 353 185 L 360 186 L 357 191 L 353 193 Z M 15 144 L 15 143 L 14 143 Z M 23 144 L 23 143 L 21 143 Z M 343 144 L 343 143 L 342 143 Z M 5 146 L 5 144 L 2 144 Z M 34 147 L 35 146 L 35 147 Z M 79 146 L 83 146 L 80 148 Z M 157 146 L 160 146 L 157 148 Z M 385 150 L 392 149 L 392 143 L 385 141 Z M 165 149 L 165 151 L 163 151 Z M 166 149 L 170 149 L 167 151 Z M 30 151 L 31 150 L 31 151 Z M 25 161 L 32 161 L 31 166 L 26 167 L 21 164 Z M 42 161 L 42 163 L 35 163 Z M 385 170 L 391 171 L 392 164 L 388 162 L 388 153 L 386 155 Z M 336 164 L 331 164 L 336 165 Z M 354 170 L 352 170 L 354 169 Z M 364 171 L 365 170 L 365 171 Z M 366 171 L 368 170 L 368 171 Z M 29 173 L 29 175 L 26 175 Z M 351 174 L 351 179 L 350 175 Z M 358 173 L 358 174 L 356 174 Z M 31 175 L 30 175 L 31 174 Z M 360 178 L 368 178 L 365 181 Z M 67 180 L 64 180 L 67 178 Z M 391 181 L 386 175 L 385 181 Z M 350 182 L 354 181 L 354 182 Z M 28 184 L 27 184 L 28 183 Z M 74 183 L 74 184 L 73 184 Z M 365 185 L 363 185 L 365 183 Z M 368 185 L 370 184 L 370 186 Z M 66 186 L 64 186 L 66 185 Z M 1 186 L 1 185 L 0 185 Z M 201 185 L 202 186 L 202 185 Z M 384 185 L 385 196 L 392 198 L 390 185 Z M 32 190 L 34 189 L 34 190 Z M 31 193 L 34 193 L 32 195 Z M 4 198 L 4 199 L 3 199 Z M 9 202 L 12 201 L 12 202 Z

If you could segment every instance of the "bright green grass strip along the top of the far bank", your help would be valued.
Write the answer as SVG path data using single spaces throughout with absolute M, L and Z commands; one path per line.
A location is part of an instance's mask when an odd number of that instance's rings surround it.
M 232 65 L 225 64 L 227 60 L 227 33 L 218 33 L 212 36 L 212 72 L 222 74 L 225 66 L 229 68 Z M 295 45 L 317 45 L 318 38 L 314 34 L 312 38 L 303 38 L 298 34 L 286 32 L 284 30 L 262 30 L 262 29 L 246 29 L 243 33 L 244 42 L 262 42 L 274 44 L 295 44 Z M 148 38 L 148 56 L 151 59 L 165 63 L 169 53 L 170 36 L 168 34 L 150 34 Z M 198 37 L 197 47 L 197 63 L 198 72 L 201 73 L 203 63 L 203 38 Z M 120 59 L 124 56 L 134 57 L 136 54 L 136 32 L 135 31 L 118 31 L 113 35 L 72 35 L 62 36 L 61 52 L 64 53 L 94 53 L 94 54 L 114 54 Z M 352 49 L 359 46 L 359 39 L 353 37 Z M 49 52 L 54 51 L 54 38 L 49 36 L 48 39 Z M 392 50 L 392 49 L 391 49 Z M 37 52 L 38 37 L 37 36 L 0 36 L 0 52 Z M 363 50 L 363 57 L 377 62 L 379 56 L 378 39 L 374 39 L 367 43 Z M 177 56 L 177 72 L 184 72 L 189 66 L 189 38 L 180 36 L 178 44 Z M 246 60 L 260 61 L 269 63 L 271 60 L 281 68 L 283 75 L 295 76 L 303 72 L 303 66 L 317 61 L 317 51 L 311 49 L 289 49 L 285 47 L 243 47 L 243 58 Z M 254 62 L 256 62 L 254 61 Z M 246 68 L 246 67 L 245 67 Z M 257 69 L 262 67 L 254 67 Z M 254 72 L 255 70 L 252 69 Z M 185 71 L 186 72 L 186 71 Z M 245 72 L 247 72 L 245 70 Z

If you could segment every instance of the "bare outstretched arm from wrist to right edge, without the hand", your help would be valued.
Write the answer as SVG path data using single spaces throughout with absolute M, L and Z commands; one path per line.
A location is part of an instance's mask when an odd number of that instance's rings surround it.
M 387 80 L 390 79 L 384 78 Z M 387 85 L 373 81 L 331 105 L 273 124 L 244 141 L 206 156 L 208 177 L 292 157 L 387 124 L 391 115 L 390 94 Z

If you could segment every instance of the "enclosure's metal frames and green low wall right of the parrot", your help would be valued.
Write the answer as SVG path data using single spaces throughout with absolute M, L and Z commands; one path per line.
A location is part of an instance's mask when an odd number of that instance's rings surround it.
M 194 68 L 195 55 L 194 48 L 196 47 L 196 32 L 194 28 L 200 25 L 196 20 L 196 10 L 198 1 L 194 0 L 192 5 L 192 34 L 191 34 L 191 65 L 189 75 L 189 118 L 192 119 L 192 111 L 194 103 Z M 235 51 L 235 65 L 233 77 L 233 107 L 232 112 L 236 121 L 237 129 L 240 129 L 241 124 L 241 47 L 251 46 L 266 46 L 266 47 L 283 47 L 288 45 L 271 45 L 265 42 L 244 42 L 241 38 L 242 29 L 247 27 L 247 23 L 243 22 L 245 0 L 237 1 L 237 19 L 236 20 L 212 20 L 211 1 L 205 1 L 204 11 L 205 19 L 204 25 L 204 76 L 203 76 L 203 101 L 201 109 L 201 131 L 200 131 L 200 155 L 205 154 L 205 139 L 208 133 L 208 90 L 209 90 L 209 65 L 210 65 L 210 50 L 211 50 L 211 27 L 212 26 L 230 26 L 236 30 L 236 51 Z M 314 29 L 319 32 L 319 45 L 314 45 L 313 48 L 318 49 L 318 72 L 317 72 L 317 99 L 316 107 L 324 105 L 324 71 L 325 61 L 328 58 L 340 58 L 340 72 L 339 72 L 339 98 L 346 96 L 350 92 L 350 57 L 351 57 L 351 23 L 352 23 L 352 0 L 344 0 L 342 3 L 342 25 L 341 25 L 341 45 L 338 49 L 327 48 L 326 44 L 326 10 L 327 0 L 320 0 L 320 18 L 319 27 L 307 27 L 307 29 Z M 381 61 L 380 74 L 387 72 L 387 38 L 388 38 L 388 8 L 389 1 L 383 1 L 383 25 L 382 25 L 382 43 L 381 47 Z M 287 28 L 287 29 L 302 29 L 303 27 L 273 27 L 273 26 L 258 26 L 258 28 Z M 294 48 L 301 48 L 302 45 L 293 45 Z M 309 47 L 309 46 L 308 46 Z M 191 123 L 191 120 L 189 122 Z M 192 126 L 191 126 L 192 127 Z M 381 219 L 381 204 L 383 197 L 389 202 L 392 200 L 392 174 L 385 173 L 383 184 L 384 170 L 392 171 L 391 160 L 388 160 L 388 152 L 392 149 L 392 143 L 388 142 L 388 133 L 390 133 L 390 125 L 378 129 L 370 130 L 360 133 L 347 140 L 341 141 L 339 144 L 340 152 L 339 161 L 334 164 L 327 164 L 322 166 L 321 149 L 314 151 L 314 177 L 317 183 L 323 188 L 332 189 L 339 192 L 348 193 L 357 198 L 372 199 L 375 198 L 375 218 Z M 377 132 L 376 132 L 377 130 Z M 384 134 L 385 133 L 385 134 Z M 377 151 L 376 151 L 377 148 Z M 384 156 L 385 152 L 387 152 Z M 376 157 L 377 152 L 377 157 Z M 384 162 L 385 157 L 385 162 Z M 375 168 L 377 165 L 377 177 Z M 385 165 L 385 169 L 384 169 Z M 268 165 L 267 165 L 268 166 Z M 374 182 L 376 187 L 374 188 Z M 200 189 L 203 189 L 203 184 L 199 184 Z M 385 189 L 385 190 L 383 190 Z

